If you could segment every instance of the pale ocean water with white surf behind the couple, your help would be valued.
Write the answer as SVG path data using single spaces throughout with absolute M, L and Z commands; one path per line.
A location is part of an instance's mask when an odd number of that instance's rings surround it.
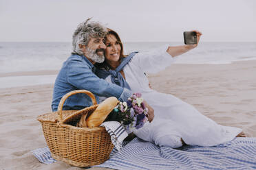
M 126 42 L 125 54 L 166 44 L 176 46 L 183 42 Z M 0 42 L 0 88 L 54 83 L 56 75 L 8 77 L 4 74 L 59 70 L 71 51 L 71 42 Z M 197 48 L 179 56 L 175 64 L 231 64 L 244 60 L 256 60 L 256 42 L 200 42 Z

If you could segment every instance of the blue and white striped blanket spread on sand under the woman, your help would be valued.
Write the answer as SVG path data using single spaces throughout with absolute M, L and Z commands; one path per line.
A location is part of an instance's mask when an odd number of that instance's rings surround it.
M 235 140 L 214 147 L 187 145 L 158 147 L 139 138 L 114 150 L 109 160 L 94 167 L 112 169 L 256 169 L 256 138 Z

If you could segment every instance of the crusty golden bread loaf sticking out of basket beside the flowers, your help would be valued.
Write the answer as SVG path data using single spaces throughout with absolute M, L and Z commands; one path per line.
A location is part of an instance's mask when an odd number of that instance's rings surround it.
M 109 97 L 98 105 L 96 110 L 86 119 L 88 127 L 98 127 L 107 118 L 107 115 L 116 107 L 118 99 Z

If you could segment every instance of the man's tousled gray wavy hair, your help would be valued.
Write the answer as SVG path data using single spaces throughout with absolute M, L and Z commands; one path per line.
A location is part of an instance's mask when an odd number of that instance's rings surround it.
M 87 19 L 80 23 L 73 34 L 73 51 L 72 53 L 83 56 L 83 51 L 79 48 L 79 44 L 87 45 L 90 38 L 103 38 L 107 35 L 107 27 L 104 27 L 98 22 Z

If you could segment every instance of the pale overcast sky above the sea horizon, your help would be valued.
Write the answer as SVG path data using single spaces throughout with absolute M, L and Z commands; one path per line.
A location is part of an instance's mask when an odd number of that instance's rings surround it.
M 125 42 L 182 41 L 191 29 L 204 42 L 256 42 L 254 0 L 0 0 L 0 41 L 70 42 L 89 17 Z

